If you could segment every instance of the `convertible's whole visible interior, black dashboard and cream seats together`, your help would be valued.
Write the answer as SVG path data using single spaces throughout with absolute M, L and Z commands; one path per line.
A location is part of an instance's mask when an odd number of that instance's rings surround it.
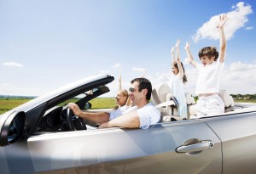
M 90 100 L 96 98 L 110 90 L 107 86 L 93 87 L 78 96 L 68 99 L 61 104 L 58 104 L 48 109 L 41 121 L 38 124 L 36 134 L 44 132 L 66 132 L 74 130 L 96 129 L 98 124 L 90 121 L 85 121 L 78 116 L 73 115 L 72 111 L 67 108 L 70 102 L 79 105 L 80 109 L 86 109 L 89 112 L 110 112 L 112 109 L 91 109 Z M 225 114 L 237 112 L 243 109 L 242 106 L 234 104 L 233 98 L 226 90 L 220 90 L 218 95 L 224 100 Z M 191 93 L 185 93 L 188 115 L 190 119 L 198 118 L 196 116 L 195 97 Z M 182 121 L 183 118 L 177 115 L 178 102 L 172 94 L 172 89 L 166 82 L 160 83 L 153 87 L 150 100 L 161 112 L 160 122 Z

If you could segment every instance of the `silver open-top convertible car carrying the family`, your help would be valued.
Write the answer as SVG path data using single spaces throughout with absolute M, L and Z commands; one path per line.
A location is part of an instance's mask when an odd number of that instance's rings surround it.
M 97 129 L 67 109 L 73 99 L 91 111 L 90 100 L 108 93 L 113 80 L 91 76 L 0 115 L 0 173 L 256 173 L 254 104 L 234 104 L 222 91 L 224 115 L 197 118 L 187 94 L 183 120 L 163 83 L 151 98 L 161 121 L 145 130 Z

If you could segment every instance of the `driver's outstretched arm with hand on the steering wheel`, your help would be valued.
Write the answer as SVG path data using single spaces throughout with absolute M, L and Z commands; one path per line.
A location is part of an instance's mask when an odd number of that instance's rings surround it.
M 67 106 L 69 109 L 72 109 L 74 115 L 77 115 L 88 121 L 94 121 L 100 124 L 102 124 L 103 122 L 109 121 L 110 115 L 108 112 L 99 112 L 99 113 L 84 112 L 81 109 L 79 109 L 79 106 L 77 104 L 74 104 L 74 103 L 70 103 Z

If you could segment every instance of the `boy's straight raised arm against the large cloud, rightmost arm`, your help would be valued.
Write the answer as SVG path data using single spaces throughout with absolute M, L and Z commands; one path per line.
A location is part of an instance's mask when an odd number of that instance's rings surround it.
M 219 32 L 219 62 L 223 63 L 225 60 L 225 54 L 226 54 L 226 48 L 227 48 L 227 41 L 226 41 L 226 37 L 224 35 L 224 24 L 226 23 L 226 21 L 229 20 L 229 18 L 227 17 L 226 14 L 224 14 L 223 16 L 219 16 L 219 20 L 217 23 L 217 28 L 218 28 L 218 32 Z

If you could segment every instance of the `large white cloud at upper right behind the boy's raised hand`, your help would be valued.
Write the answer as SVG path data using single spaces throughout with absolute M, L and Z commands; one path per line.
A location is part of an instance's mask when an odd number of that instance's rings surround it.
M 247 15 L 252 14 L 253 10 L 251 5 L 243 2 L 237 3 L 236 6 L 232 6 L 232 11 L 226 13 L 229 20 L 224 26 L 226 39 L 229 40 L 235 34 L 235 32 L 244 27 L 247 23 Z M 212 16 L 212 18 L 204 23 L 193 36 L 193 41 L 198 42 L 201 39 L 218 40 L 218 30 L 216 30 L 216 22 L 218 22 L 219 15 Z

